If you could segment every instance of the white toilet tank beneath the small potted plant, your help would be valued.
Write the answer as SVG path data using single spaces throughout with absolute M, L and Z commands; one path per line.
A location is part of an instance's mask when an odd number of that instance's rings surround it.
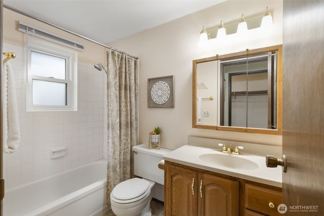
M 164 170 L 158 168 L 158 163 L 163 160 L 163 155 L 171 152 L 168 149 L 148 149 L 148 145 L 133 147 L 134 174 L 138 177 L 164 185 Z

